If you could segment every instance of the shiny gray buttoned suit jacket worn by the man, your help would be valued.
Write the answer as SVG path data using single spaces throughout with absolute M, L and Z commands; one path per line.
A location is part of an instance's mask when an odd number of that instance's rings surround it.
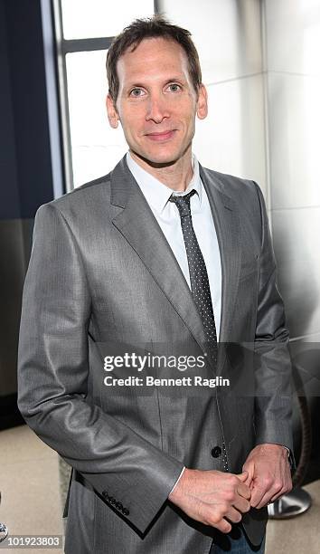
M 125 158 L 37 211 L 18 404 L 74 468 L 66 552 L 208 552 L 215 531 L 167 501 L 183 466 L 240 473 L 255 444 L 292 448 L 288 333 L 263 197 L 252 181 L 202 167 L 201 177 L 221 250 L 217 373 L 233 390 L 103 384 L 103 349 L 205 351 L 191 291 Z M 208 360 L 202 377 L 213 370 Z M 212 457 L 221 444 L 227 461 Z M 244 518 L 257 544 L 266 520 L 266 509 Z

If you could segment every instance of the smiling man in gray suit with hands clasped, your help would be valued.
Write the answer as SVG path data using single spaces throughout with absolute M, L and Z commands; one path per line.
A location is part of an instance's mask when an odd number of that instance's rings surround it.
M 39 208 L 24 284 L 19 407 L 73 467 L 65 551 L 263 552 L 292 450 L 263 196 L 192 154 L 207 93 L 190 33 L 137 20 L 107 71 L 127 156 Z M 150 363 L 182 353 L 184 374 Z

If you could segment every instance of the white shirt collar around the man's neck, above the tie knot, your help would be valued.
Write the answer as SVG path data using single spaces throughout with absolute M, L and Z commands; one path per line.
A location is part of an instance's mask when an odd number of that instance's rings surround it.
M 133 177 L 135 177 L 138 186 L 141 188 L 144 196 L 146 197 L 147 203 L 151 205 L 159 214 L 164 211 L 165 205 L 169 201 L 172 194 L 176 196 L 184 196 L 193 190 L 193 188 L 199 197 L 199 204 L 201 205 L 202 182 L 199 174 L 199 162 L 197 158 L 195 158 L 194 154 L 192 157 L 193 177 L 184 192 L 175 192 L 169 186 L 161 183 L 161 181 L 148 173 L 146 169 L 140 167 L 131 157 L 129 152 L 127 152 L 126 159 L 127 167 L 131 171 Z

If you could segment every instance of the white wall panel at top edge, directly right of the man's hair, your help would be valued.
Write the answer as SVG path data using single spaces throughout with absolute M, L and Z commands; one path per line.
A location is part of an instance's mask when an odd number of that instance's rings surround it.
M 173 23 L 193 33 L 203 82 L 261 71 L 260 7 L 257 0 L 162 0 Z

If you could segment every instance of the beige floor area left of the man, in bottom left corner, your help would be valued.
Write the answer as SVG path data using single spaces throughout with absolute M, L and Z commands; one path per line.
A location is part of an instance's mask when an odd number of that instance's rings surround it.
M 9 534 L 62 535 L 58 454 L 21 425 L 0 433 L 0 468 L 0 521 Z M 40 554 L 42 549 L 4 551 Z M 44 550 L 50 551 L 62 554 L 63 549 Z

